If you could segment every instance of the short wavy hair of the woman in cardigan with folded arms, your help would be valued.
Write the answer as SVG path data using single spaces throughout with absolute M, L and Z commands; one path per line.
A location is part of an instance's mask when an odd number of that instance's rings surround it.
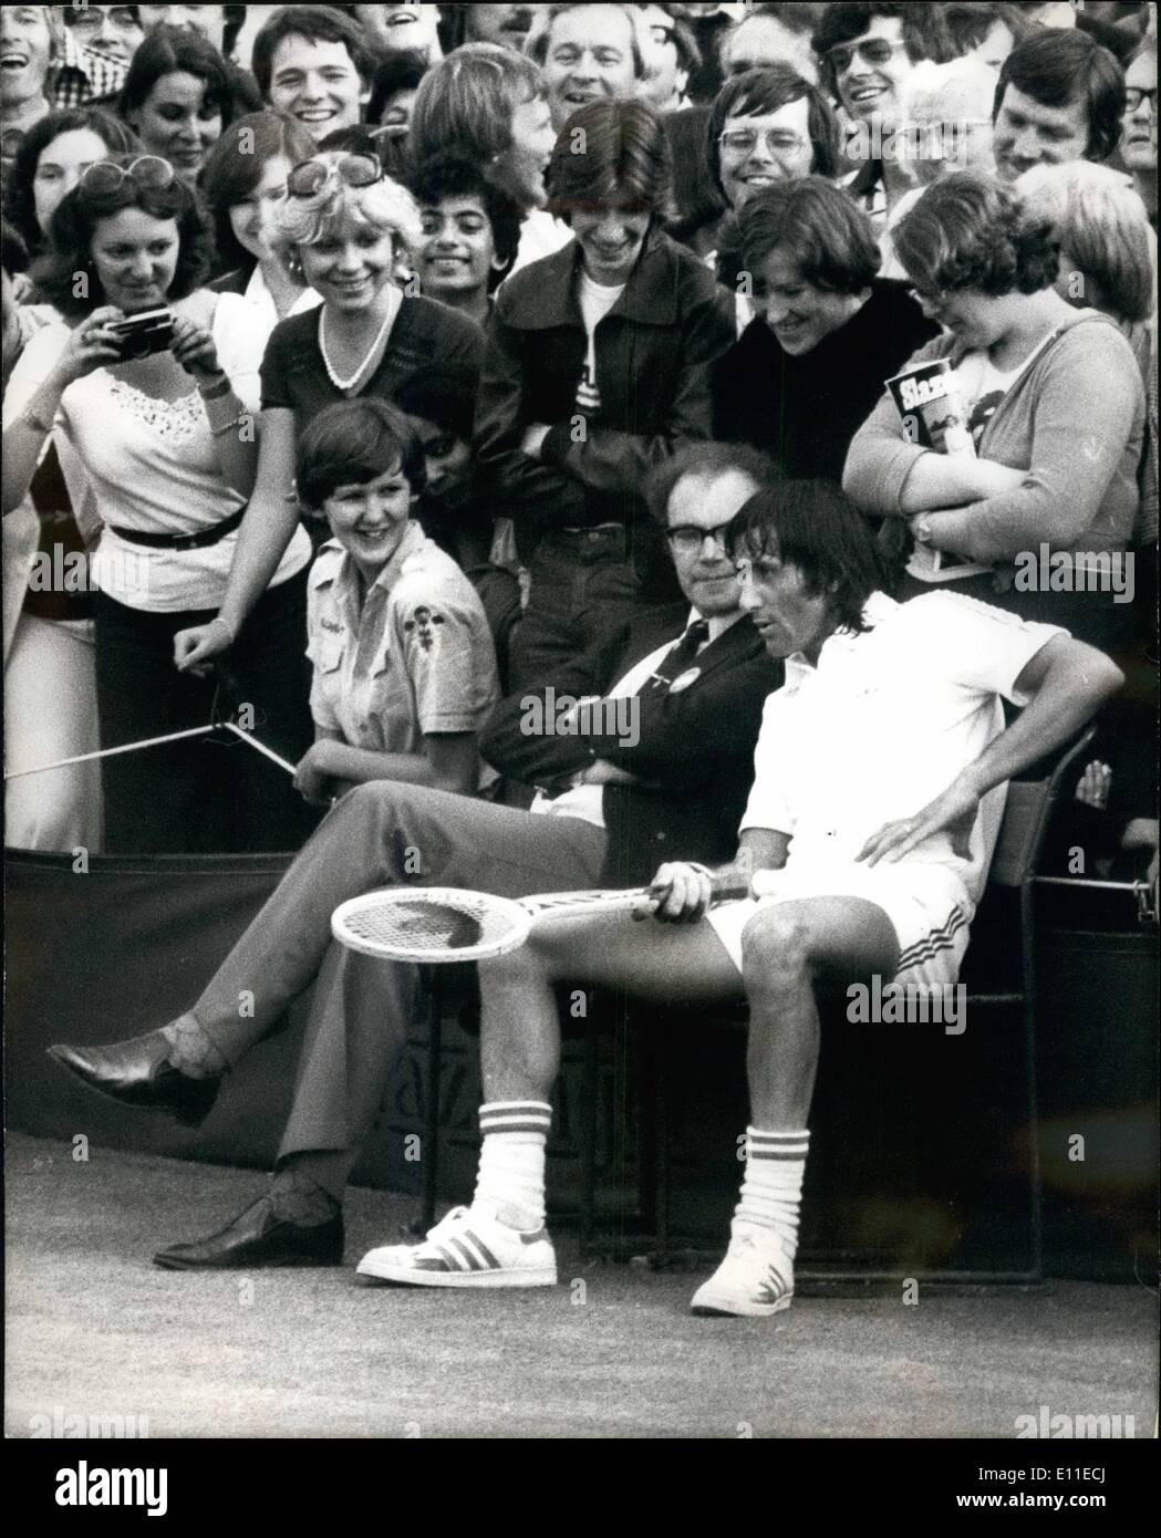
M 895 229 L 895 251 L 912 283 L 944 292 L 1038 294 L 1060 272 L 1052 223 L 978 171 L 927 188 Z

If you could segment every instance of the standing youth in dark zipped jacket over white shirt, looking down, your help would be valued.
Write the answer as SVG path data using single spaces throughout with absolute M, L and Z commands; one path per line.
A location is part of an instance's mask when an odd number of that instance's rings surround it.
M 575 240 L 498 291 L 475 418 L 481 483 L 532 574 L 515 687 L 677 597 L 644 478 L 710 437 L 709 365 L 734 341 L 730 295 L 657 228 L 670 160 L 652 108 L 581 108 L 547 186 Z

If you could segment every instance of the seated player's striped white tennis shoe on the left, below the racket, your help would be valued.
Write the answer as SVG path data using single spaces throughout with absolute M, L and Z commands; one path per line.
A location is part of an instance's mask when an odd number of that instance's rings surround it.
M 547 1229 L 521 1233 L 475 1204 L 452 1207 L 423 1244 L 369 1250 L 357 1270 L 412 1287 L 554 1287 L 557 1255 Z

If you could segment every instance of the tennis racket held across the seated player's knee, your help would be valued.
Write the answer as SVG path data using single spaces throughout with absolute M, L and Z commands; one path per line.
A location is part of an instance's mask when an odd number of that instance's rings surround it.
M 735 872 L 712 877 L 712 901 L 749 897 L 749 880 Z M 507 955 L 527 940 L 534 924 L 583 914 L 646 918 L 657 898 L 649 887 L 614 892 L 547 892 L 540 897 L 494 897 L 452 886 L 395 886 L 352 897 L 334 910 L 335 940 L 388 961 L 449 964 Z

